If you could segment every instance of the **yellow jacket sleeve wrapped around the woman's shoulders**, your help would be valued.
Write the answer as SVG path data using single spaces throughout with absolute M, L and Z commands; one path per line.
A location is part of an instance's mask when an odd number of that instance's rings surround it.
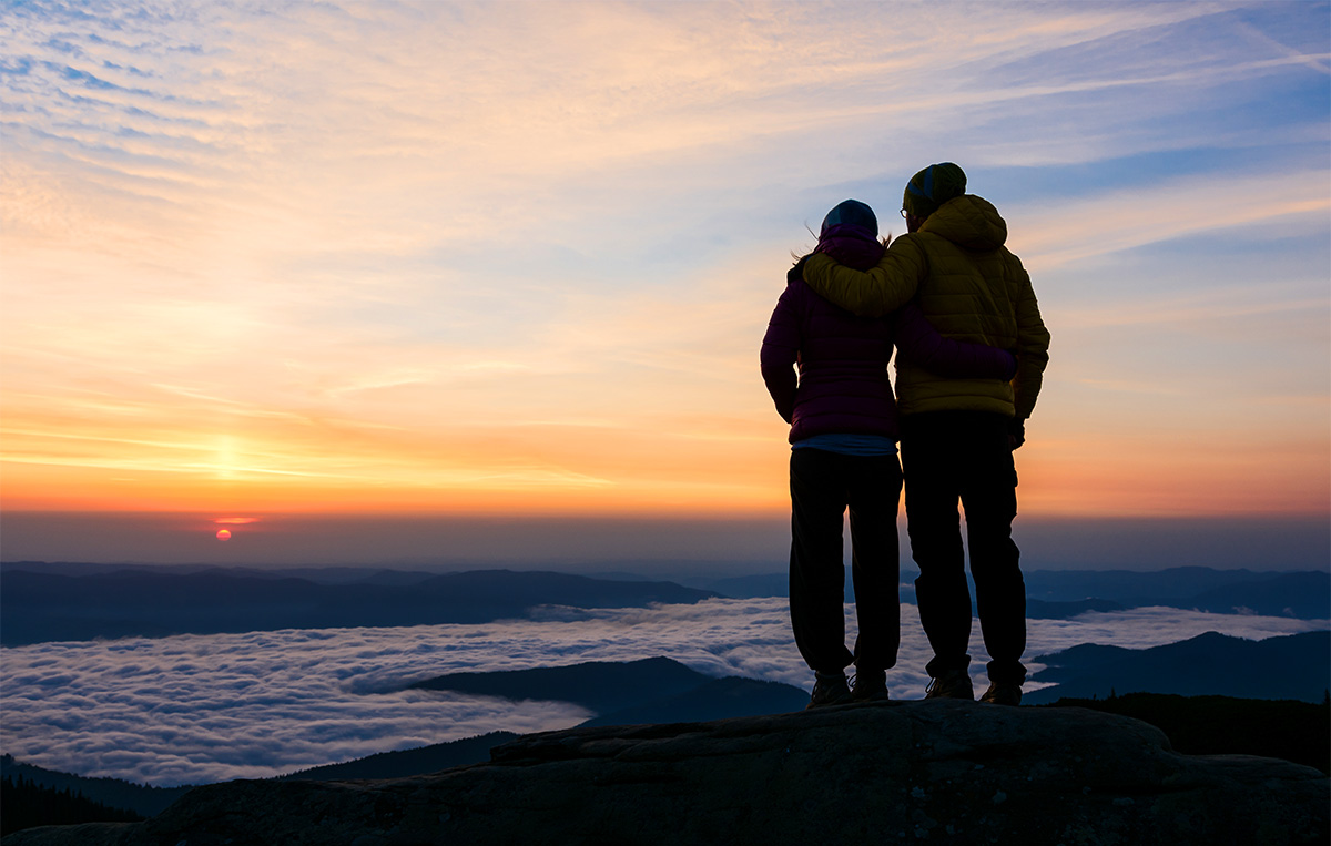
M 869 270 L 855 270 L 827 253 L 815 253 L 804 265 L 804 281 L 847 311 L 882 317 L 910 302 L 926 271 L 924 251 L 909 235 L 902 235 Z

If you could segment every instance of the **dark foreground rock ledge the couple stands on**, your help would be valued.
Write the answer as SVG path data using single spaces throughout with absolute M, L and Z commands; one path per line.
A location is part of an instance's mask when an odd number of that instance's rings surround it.
M 1331 785 L 1174 753 L 1145 722 L 960 701 L 584 728 L 393 781 L 198 787 L 140 823 L 4 846 L 339 843 L 1318 843 Z

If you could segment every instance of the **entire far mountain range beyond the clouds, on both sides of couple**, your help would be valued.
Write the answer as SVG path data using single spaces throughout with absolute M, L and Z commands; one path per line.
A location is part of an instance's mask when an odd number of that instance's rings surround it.
M 912 576 L 902 571 L 902 577 Z M 433 573 L 386 568 L 0 565 L 0 644 L 277 628 L 401 627 L 523 617 L 535 605 L 578 608 L 695 603 L 708 596 L 787 596 L 787 575 L 688 579 L 681 587 L 627 575 Z M 1331 575 L 1179 567 L 1158 572 L 1029 571 L 1028 616 L 1166 605 L 1215 613 L 1331 619 Z M 847 599 L 853 600 L 847 579 Z M 901 600 L 914 603 L 913 585 Z

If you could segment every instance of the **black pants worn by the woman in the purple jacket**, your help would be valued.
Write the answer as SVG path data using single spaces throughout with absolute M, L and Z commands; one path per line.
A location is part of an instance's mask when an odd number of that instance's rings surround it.
M 894 455 L 791 450 L 791 625 L 804 661 L 819 673 L 897 662 L 901 642 Z M 851 508 L 851 577 L 860 636 L 845 648 L 841 517 Z

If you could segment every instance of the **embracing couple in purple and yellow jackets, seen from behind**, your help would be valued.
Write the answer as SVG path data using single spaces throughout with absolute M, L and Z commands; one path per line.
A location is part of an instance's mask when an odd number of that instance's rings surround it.
M 966 193 L 961 168 L 944 162 L 914 174 L 901 215 L 906 234 L 889 243 L 868 205 L 833 208 L 817 247 L 787 274 L 763 338 L 763 379 L 791 424 L 791 624 L 815 673 L 809 708 L 889 698 L 886 670 L 901 640 L 902 486 L 920 623 L 933 648 L 926 698 L 974 698 L 960 501 L 990 657 L 981 701 L 1017 705 L 1026 588 L 1012 540 L 1013 450 L 1040 394 L 1049 331 L 1030 277 L 1004 246 L 1006 223 Z M 853 649 L 845 645 L 847 509 Z

